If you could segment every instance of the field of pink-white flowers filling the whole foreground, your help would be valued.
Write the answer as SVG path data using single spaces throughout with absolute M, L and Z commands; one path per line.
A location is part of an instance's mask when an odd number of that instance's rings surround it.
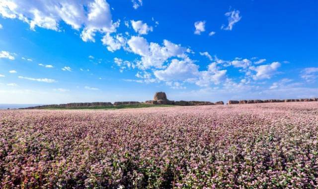
M 318 102 L 1 110 L 0 188 L 318 188 Z

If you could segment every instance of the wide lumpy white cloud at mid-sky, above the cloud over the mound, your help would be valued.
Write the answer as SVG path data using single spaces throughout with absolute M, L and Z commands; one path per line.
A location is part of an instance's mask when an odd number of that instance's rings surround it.
M 140 66 L 143 68 L 161 68 L 162 64 L 170 57 L 184 56 L 188 49 L 180 45 L 163 40 L 163 46 L 157 43 L 148 43 L 143 37 L 132 36 L 128 41 L 128 46 L 135 54 L 142 56 Z

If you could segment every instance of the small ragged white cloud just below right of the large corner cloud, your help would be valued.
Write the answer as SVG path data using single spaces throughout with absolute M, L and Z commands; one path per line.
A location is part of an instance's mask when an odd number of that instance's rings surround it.
M 101 40 L 104 46 L 107 46 L 107 50 L 114 52 L 115 50 L 119 50 L 121 47 L 124 47 L 126 39 L 121 35 L 117 34 L 116 37 L 112 37 L 110 33 L 104 35 L 103 39 Z

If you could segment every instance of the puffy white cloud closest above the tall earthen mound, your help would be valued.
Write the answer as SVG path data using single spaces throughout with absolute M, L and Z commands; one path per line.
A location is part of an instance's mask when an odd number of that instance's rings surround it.
M 199 73 L 198 69 L 199 66 L 194 64 L 189 58 L 184 60 L 172 59 L 166 69 L 156 70 L 154 75 L 161 81 L 183 81 L 195 79 Z

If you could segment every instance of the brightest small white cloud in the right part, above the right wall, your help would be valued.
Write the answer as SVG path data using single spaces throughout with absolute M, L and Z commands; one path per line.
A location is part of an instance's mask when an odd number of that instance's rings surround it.
M 280 65 L 281 64 L 279 62 L 273 62 L 271 64 L 250 67 L 251 70 L 256 71 L 256 74 L 252 77 L 254 80 L 270 79 L 271 76 L 277 72 L 277 69 L 280 67 Z

